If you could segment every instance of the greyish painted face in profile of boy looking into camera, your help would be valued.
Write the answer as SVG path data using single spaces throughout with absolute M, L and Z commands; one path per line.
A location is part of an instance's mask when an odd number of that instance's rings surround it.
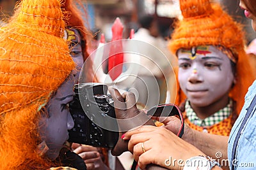
M 49 117 L 45 115 L 40 120 L 40 137 L 49 147 L 46 155 L 50 159 L 58 157 L 63 144 L 68 139 L 68 130 L 74 127 L 74 120 L 67 105 L 73 99 L 73 86 L 74 78 L 70 76 L 47 103 L 46 110 Z

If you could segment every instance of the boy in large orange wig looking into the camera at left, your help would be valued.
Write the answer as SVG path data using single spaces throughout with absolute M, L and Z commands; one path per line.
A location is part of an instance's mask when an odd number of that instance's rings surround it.
M 0 169 L 86 169 L 75 153 L 68 164 L 59 159 L 68 156 L 63 147 L 74 127 L 68 103 L 76 64 L 64 20 L 62 1 L 24 0 L 0 28 Z

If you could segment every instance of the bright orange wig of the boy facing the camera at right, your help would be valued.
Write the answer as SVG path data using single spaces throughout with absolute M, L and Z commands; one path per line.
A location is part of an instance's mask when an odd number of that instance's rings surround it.
M 234 22 L 221 9 L 220 4 L 210 3 L 209 0 L 180 0 L 180 10 L 184 18 L 175 27 L 169 44 L 170 50 L 176 53 L 180 48 L 189 49 L 199 45 L 223 46 L 230 50 L 232 56 L 228 57 L 235 59 L 237 81 L 229 96 L 236 101 L 236 113 L 239 113 L 248 87 L 255 80 L 255 73 L 244 51 L 244 32 L 241 25 Z M 175 103 L 180 104 L 185 98 L 178 87 Z

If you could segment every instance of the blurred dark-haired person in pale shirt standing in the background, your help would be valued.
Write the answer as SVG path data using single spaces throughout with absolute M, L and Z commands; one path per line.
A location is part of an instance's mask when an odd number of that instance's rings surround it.
M 159 34 L 157 20 L 152 15 L 143 15 L 139 18 L 140 28 L 134 34 L 134 40 L 144 41 L 150 45 L 155 46 L 158 50 L 164 53 L 164 55 L 157 56 L 154 48 L 147 49 L 150 56 L 140 57 L 140 71 L 138 76 L 140 79 L 134 82 L 134 88 L 138 90 L 139 97 L 138 103 L 147 105 L 147 108 L 151 108 L 159 103 L 165 103 L 166 101 L 166 82 L 175 81 L 172 73 L 165 73 L 166 67 L 177 65 L 177 59 L 169 52 L 167 47 L 167 41 L 165 41 Z M 166 56 L 166 59 L 161 57 Z M 159 64 L 157 66 L 156 64 Z M 168 75 L 169 77 L 164 77 Z M 171 80 L 168 80 L 171 79 Z M 172 83 L 171 83 L 172 84 Z M 172 84 L 173 85 L 173 84 Z M 159 94 L 157 89 L 159 87 Z M 158 97 L 159 96 L 159 99 Z

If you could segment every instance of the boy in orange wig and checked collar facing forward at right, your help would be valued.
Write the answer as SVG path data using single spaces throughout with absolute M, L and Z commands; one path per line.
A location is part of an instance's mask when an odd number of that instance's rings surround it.
M 220 4 L 204 3 L 207 6 L 180 1 L 184 18 L 170 40 L 170 50 L 179 60 L 175 104 L 192 129 L 228 136 L 255 73 L 244 50 L 241 25 Z

